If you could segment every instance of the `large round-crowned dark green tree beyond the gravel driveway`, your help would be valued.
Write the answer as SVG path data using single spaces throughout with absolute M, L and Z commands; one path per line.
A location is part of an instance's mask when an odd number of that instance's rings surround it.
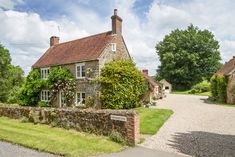
M 189 89 L 203 79 L 209 80 L 221 66 L 219 43 L 208 30 L 193 25 L 176 29 L 156 45 L 161 65 L 158 74 L 175 89 Z

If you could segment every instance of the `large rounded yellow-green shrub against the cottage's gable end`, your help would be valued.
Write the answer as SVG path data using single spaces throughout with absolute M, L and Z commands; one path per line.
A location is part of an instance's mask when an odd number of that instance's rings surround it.
M 112 61 L 100 76 L 102 108 L 129 109 L 139 106 L 146 86 L 143 75 L 129 60 Z

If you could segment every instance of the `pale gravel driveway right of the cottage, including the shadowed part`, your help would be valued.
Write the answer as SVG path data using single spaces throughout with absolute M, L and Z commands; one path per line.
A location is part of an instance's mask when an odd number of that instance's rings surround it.
M 205 96 L 168 95 L 157 108 L 174 114 L 142 146 L 195 157 L 235 157 L 235 107 L 209 104 Z

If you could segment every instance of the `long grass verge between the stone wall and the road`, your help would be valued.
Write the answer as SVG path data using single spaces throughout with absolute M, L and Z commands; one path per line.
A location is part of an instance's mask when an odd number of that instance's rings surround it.
M 0 126 L 0 140 L 69 157 L 94 156 L 117 152 L 123 148 L 108 137 L 22 123 L 6 117 L 0 117 Z

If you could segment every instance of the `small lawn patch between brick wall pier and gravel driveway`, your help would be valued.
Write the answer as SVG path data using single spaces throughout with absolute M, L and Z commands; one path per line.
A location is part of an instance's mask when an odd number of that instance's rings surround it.
M 156 134 L 161 126 L 173 114 L 168 109 L 136 108 L 140 113 L 140 133 Z

